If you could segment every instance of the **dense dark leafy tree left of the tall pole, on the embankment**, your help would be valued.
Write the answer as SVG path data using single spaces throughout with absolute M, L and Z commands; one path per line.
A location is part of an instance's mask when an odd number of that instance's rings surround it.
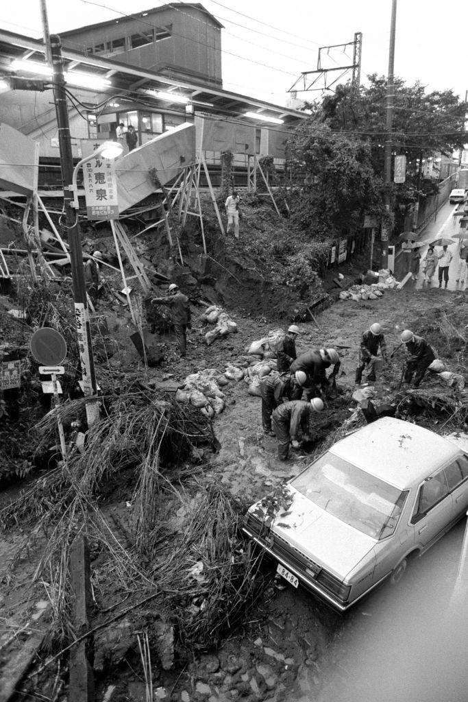
M 314 239 L 335 239 L 362 227 L 364 213 L 382 211 L 382 178 L 370 146 L 309 119 L 289 143 L 288 167 L 307 173 L 293 194 L 291 218 Z

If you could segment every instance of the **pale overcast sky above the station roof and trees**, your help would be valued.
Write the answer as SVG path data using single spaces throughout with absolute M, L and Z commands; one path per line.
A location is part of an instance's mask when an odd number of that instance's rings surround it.
M 468 48 L 462 27 L 465 3 L 399 0 L 397 75 L 410 84 L 421 81 L 428 91 L 452 88 L 464 98 L 468 88 Z M 163 4 L 163 0 L 47 0 L 54 33 Z M 285 104 L 286 91 L 300 73 L 316 69 L 319 46 L 353 41 L 354 32 L 363 33 L 361 81 L 366 81 L 366 74 L 387 73 L 391 0 L 234 0 L 230 4 L 205 0 L 202 4 L 225 25 L 223 80 L 225 88 L 236 93 Z M 39 0 L 5 1 L 0 26 L 41 36 Z M 331 52 L 322 67 L 348 64 L 349 58 Z M 313 99 L 321 93 L 300 95 Z

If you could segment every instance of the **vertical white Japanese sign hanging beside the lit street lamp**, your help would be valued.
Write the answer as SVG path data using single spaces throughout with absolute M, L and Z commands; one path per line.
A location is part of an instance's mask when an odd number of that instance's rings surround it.
M 119 217 L 114 161 L 93 157 L 83 165 L 86 213 L 89 220 Z

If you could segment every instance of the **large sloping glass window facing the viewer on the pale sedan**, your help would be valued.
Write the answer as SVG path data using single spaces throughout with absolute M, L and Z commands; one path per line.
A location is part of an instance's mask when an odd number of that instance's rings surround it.
M 291 485 L 322 510 L 377 540 L 393 534 L 408 496 L 408 491 L 400 491 L 330 451 Z

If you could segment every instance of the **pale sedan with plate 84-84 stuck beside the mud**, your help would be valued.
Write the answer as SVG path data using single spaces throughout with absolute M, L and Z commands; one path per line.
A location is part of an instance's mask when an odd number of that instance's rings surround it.
M 252 505 L 243 531 L 277 572 L 345 611 L 398 581 L 468 508 L 468 455 L 415 424 L 385 417 L 352 432 Z

